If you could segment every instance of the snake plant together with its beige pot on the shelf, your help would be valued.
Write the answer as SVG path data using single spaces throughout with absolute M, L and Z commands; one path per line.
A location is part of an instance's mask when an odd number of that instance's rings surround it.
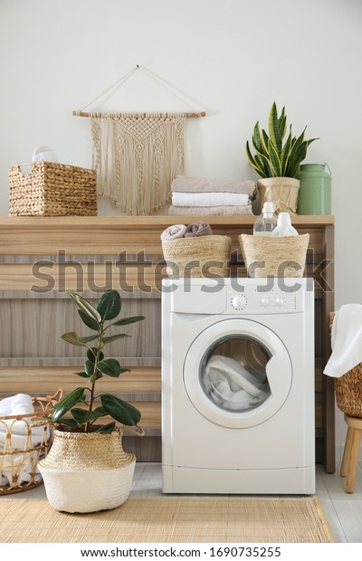
M 305 159 L 310 143 L 317 138 L 305 139 L 306 128 L 297 138 L 293 136 L 291 126 L 287 134 L 287 116 L 285 107 L 278 114 L 275 101 L 271 105 L 268 120 L 268 133 L 256 122 L 252 134 L 252 150 L 246 142 L 246 156 L 255 171 L 262 177 L 258 181 L 261 205 L 264 201 L 272 202 L 276 213 L 295 214 L 298 205 L 300 187 L 300 163 Z

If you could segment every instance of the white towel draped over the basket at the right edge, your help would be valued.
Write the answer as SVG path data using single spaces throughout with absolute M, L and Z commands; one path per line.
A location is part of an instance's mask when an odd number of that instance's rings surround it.
M 331 333 L 332 353 L 324 374 L 338 378 L 362 362 L 362 305 L 345 304 L 336 312 Z

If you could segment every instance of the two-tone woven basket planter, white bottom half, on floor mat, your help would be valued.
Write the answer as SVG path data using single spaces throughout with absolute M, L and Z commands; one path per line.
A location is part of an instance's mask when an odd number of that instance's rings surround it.
M 56 430 L 39 470 L 53 509 L 94 512 L 115 509 L 129 498 L 135 465 L 135 454 L 123 450 L 121 429 L 111 434 Z

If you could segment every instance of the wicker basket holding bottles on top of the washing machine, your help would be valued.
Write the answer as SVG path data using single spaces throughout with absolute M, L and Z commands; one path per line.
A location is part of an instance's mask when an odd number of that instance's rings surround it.
M 309 242 L 309 233 L 285 238 L 239 235 L 243 261 L 252 278 L 302 277 Z

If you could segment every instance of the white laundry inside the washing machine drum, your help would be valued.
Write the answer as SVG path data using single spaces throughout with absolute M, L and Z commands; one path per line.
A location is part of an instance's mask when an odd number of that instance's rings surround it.
M 238 411 L 262 403 L 268 396 L 262 384 L 239 362 L 214 355 L 207 362 L 204 387 L 214 404 Z

